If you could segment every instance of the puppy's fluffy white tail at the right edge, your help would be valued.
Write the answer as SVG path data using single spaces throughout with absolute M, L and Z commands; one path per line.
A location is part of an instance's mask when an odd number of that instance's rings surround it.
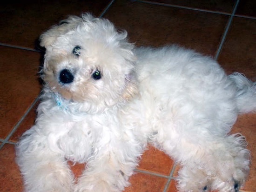
M 236 103 L 239 113 L 256 113 L 256 82 L 247 79 L 241 73 L 229 75 L 236 84 Z

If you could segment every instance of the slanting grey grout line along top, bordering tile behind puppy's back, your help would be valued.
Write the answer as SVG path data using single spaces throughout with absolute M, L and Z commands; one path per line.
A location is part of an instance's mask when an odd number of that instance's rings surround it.
M 152 5 L 160 5 L 160 6 L 165 6 L 165 7 L 175 7 L 175 8 L 189 9 L 189 10 L 193 10 L 193 11 L 200 11 L 200 12 L 206 12 L 206 13 L 217 13 L 217 14 L 222 14 L 222 15 L 231 15 L 231 13 L 226 13 L 226 12 L 210 11 L 210 10 L 207 10 L 207 9 L 200 9 L 200 8 L 187 7 L 187 6 L 179 6 L 179 5 L 173 5 L 173 4 L 167 4 L 167 3 L 151 2 L 151 1 L 147 1 L 147 0 L 130 0 L 130 1 L 147 3 L 147 4 L 152 4 Z

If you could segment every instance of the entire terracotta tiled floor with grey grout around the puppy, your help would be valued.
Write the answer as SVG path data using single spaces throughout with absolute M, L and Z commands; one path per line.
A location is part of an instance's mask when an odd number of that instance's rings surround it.
M 38 1 L 39 2 L 39 1 Z M 211 55 L 227 73 L 256 81 L 255 0 L 34 0 L 0 6 L 0 192 L 21 192 L 14 144 L 34 122 L 41 56 L 37 38 L 66 15 L 91 12 L 112 20 L 141 46 L 180 44 Z M 252 164 L 243 190 L 256 192 L 256 114 L 241 115 L 233 132 L 249 142 Z M 177 166 L 178 167 L 178 166 Z M 163 152 L 146 151 L 126 192 L 175 192 L 178 168 Z M 76 176 L 82 165 L 73 167 Z

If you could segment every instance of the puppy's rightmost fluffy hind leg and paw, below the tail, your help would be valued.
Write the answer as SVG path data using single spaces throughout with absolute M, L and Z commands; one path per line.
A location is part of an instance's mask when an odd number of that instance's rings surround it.
M 217 177 L 211 186 L 219 192 L 237 192 L 249 174 L 250 152 L 240 134 L 226 136 L 222 143 L 223 147 L 216 151 L 214 170 Z

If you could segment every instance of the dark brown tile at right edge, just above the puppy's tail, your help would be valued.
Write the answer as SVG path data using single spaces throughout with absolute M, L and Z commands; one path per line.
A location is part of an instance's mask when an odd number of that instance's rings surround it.
M 234 18 L 219 56 L 227 73 L 240 72 L 256 81 L 256 20 Z

